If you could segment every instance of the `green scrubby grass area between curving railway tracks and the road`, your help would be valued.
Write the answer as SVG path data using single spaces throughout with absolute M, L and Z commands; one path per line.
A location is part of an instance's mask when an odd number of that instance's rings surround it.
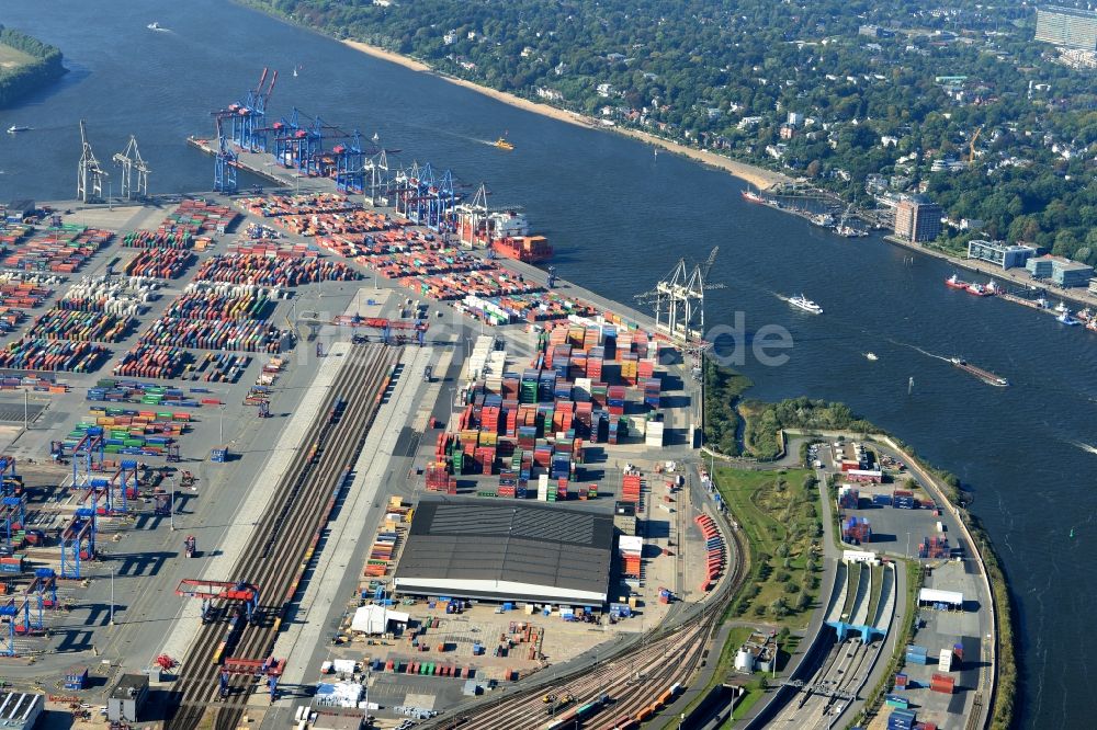
M 716 468 L 716 484 L 750 545 L 751 574 L 734 614 L 799 629 L 818 595 L 822 561 L 812 546 L 822 535 L 818 491 L 804 487 L 807 469 L 747 471 Z

